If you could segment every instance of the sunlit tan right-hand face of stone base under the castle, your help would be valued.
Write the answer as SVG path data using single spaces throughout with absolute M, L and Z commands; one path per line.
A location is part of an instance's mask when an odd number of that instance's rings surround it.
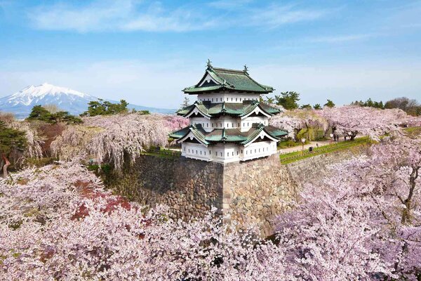
M 298 195 L 279 155 L 226 164 L 222 207 L 224 214 L 248 226 L 256 223 L 262 235 L 273 234 L 273 219 L 286 210 L 286 202 Z

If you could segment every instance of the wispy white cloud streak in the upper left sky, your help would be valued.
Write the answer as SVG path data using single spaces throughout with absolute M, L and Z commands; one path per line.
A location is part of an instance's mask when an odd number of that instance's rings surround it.
M 61 2 L 36 7 L 28 13 L 28 17 L 37 29 L 76 32 L 184 32 L 213 25 L 212 20 L 197 12 L 184 8 L 168 11 L 159 3 L 145 4 L 135 0 L 93 1 L 85 6 Z

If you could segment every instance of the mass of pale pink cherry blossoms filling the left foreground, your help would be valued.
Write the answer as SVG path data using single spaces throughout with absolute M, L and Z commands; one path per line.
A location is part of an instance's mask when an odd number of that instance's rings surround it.
M 146 211 L 74 162 L 20 171 L 0 192 L 6 280 L 295 280 L 283 249 L 255 230 Z

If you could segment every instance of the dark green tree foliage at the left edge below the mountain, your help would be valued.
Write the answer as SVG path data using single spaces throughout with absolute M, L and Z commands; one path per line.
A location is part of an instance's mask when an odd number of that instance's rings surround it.
M 0 153 L 8 154 L 12 150 L 25 150 L 27 138 L 25 131 L 11 129 L 0 121 Z

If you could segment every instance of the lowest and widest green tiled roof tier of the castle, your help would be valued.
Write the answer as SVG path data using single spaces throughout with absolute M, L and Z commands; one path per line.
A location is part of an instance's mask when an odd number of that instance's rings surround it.
M 275 128 L 274 126 L 264 126 L 263 124 L 253 124 L 250 130 L 245 132 L 241 132 L 239 129 L 213 129 L 213 131 L 206 132 L 201 124 L 196 124 L 175 131 L 170 136 L 180 139 L 187 136 L 189 132 L 192 132 L 199 141 L 206 145 L 213 143 L 239 143 L 246 145 L 250 141 L 253 141 L 261 131 L 265 131 L 269 136 L 276 139 L 288 134 L 288 132 Z

